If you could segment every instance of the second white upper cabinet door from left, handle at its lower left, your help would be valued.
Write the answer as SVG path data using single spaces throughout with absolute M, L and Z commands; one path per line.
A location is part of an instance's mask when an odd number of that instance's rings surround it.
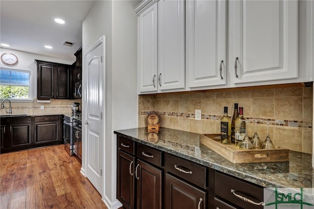
M 185 1 L 158 1 L 158 88 L 185 87 Z

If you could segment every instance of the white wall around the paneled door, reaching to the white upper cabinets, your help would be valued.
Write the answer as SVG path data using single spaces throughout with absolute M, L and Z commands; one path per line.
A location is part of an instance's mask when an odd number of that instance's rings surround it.
M 134 12 L 137 3 L 132 0 L 95 1 L 82 27 L 83 54 L 105 35 L 103 199 L 109 209 L 120 206 L 116 199 L 117 148 L 113 131 L 137 127 L 137 16 Z M 84 166 L 86 162 L 83 159 Z

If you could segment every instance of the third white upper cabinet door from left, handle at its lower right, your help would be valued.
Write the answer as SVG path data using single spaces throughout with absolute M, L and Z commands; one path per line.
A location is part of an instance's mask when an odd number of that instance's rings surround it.
M 188 87 L 225 85 L 226 1 L 186 1 Z

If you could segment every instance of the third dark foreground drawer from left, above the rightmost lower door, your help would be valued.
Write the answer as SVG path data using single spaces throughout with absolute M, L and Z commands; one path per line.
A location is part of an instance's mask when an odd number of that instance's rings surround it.
M 206 188 L 206 167 L 165 154 L 165 169 L 184 180 Z

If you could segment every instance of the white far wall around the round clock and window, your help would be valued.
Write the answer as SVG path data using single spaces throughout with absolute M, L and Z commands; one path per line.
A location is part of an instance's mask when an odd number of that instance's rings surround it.
M 69 60 L 69 59 L 61 59 L 58 57 L 46 56 L 42 54 L 0 48 L 0 54 L 4 52 L 14 53 L 19 58 L 19 62 L 18 64 L 14 66 L 8 66 L 0 62 L 1 68 L 31 71 L 30 98 L 37 97 L 37 65 L 34 62 L 35 59 L 49 61 L 49 62 L 70 64 L 70 65 L 73 64 L 73 62 L 75 62 L 76 60 L 76 57 L 74 55 L 73 55 L 73 59 Z

